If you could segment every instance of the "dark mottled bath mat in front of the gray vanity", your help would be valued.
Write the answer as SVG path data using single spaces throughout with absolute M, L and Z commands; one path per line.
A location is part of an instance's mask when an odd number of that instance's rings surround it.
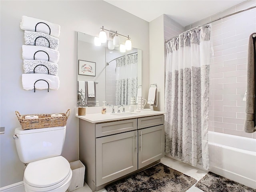
M 108 192 L 185 192 L 196 180 L 162 163 L 105 187 Z

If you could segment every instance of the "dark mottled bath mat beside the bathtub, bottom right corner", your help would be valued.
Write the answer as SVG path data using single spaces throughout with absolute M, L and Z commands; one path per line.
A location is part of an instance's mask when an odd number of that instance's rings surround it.
M 195 186 L 204 192 L 256 192 L 253 188 L 212 172 L 208 172 Z

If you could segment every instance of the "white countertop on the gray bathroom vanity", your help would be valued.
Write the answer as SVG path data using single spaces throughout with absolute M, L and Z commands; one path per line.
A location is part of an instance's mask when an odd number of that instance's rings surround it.
M 78 116 L 76 117 L 86 120 L 91 123 L 99 123 L 99 122 L 108 122 L 108 121 L 115 121 L 115 120 L 125 120 L 125 119 L 133 119 L 138 117 L 146 117 L 146 116 L 155 116 L 155 115 L 162 115 L 166 112 L 162 111 L 148 111 L 148 110 L 141 110 L 141 112 L 121 112 L 121 113 L 94 113 L 94 114 L 86 114 L 84 116 Z

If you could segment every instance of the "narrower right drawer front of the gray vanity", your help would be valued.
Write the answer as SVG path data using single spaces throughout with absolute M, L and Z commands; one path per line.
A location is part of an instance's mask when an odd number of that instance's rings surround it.
M 138 118 L 138 129 L 164 124 L 164 115 Z

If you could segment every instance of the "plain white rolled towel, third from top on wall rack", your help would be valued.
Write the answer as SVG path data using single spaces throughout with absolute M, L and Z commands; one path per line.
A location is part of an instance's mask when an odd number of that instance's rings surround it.
M 54 50 L 48 47 L 22 45 L 22 58 L 45 60 L 53 63 L 58 63 L 60 53 L 58 50 Z

